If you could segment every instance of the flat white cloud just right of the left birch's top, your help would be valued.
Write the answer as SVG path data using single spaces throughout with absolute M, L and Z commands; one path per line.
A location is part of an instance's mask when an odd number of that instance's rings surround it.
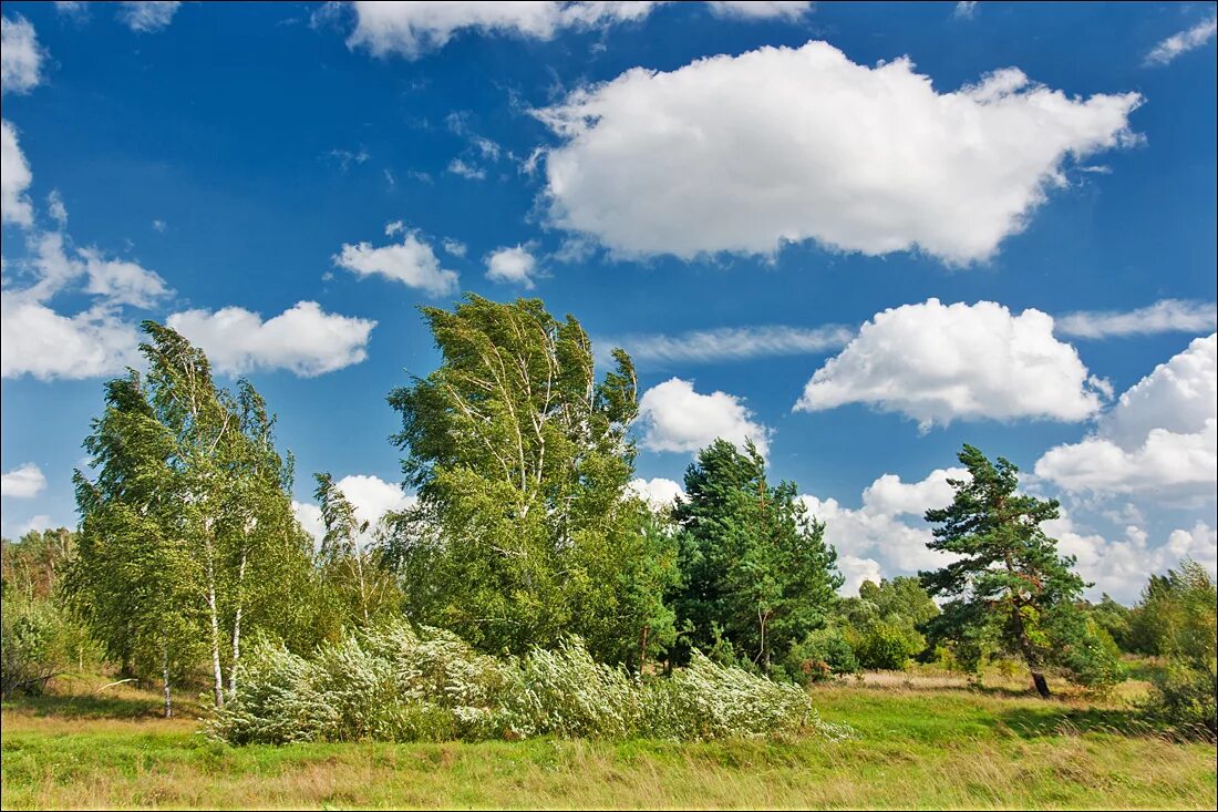
M 314 301 L 297 302 L 267 321 L 242 307 L 224 307 L 174 313 L 168 324 L 220 372 L 289 369 L 306 378 L 364 361 L 376 327 L 370 319 L 326 313 Z

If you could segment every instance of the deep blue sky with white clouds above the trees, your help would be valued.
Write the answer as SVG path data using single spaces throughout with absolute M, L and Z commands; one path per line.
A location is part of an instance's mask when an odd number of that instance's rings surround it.
M 636 355 L 649 493 L 761 439 L 851 585 L 962 443 L 1096 591 L 1213 567 L 1214 4 L 495 5 L 4 4 L 6 535 L 141 318 L 384 510 L 473 291 Z

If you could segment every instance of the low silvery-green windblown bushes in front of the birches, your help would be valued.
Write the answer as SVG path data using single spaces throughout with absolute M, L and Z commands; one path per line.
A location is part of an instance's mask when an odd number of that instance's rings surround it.
M 262 641 L 209 727 L 230 744 L 442 741 L 538 735 L 597 739 L 840 738 L 806 693 L 694 652 L 671 678 L 597 663 L 576 639 L 520 658 L 456 635 L 391 623 L 303 658 Z

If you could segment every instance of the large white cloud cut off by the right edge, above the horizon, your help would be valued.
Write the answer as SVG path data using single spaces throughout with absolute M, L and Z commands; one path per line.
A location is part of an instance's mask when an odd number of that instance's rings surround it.
M 1073 491 L 1213 499 L 1218 483 L 1216 335 L 1195 339 L 1102 415 L 1080 443 L 1058 445 L 1037 475 Z

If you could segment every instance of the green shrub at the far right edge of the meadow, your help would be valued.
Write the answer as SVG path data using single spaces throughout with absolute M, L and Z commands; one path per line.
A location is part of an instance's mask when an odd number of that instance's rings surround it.
M 1209 573 L 1185 561 L 1166 575 L 1152 575 L 1134 614 L 1133 625 L 1145 643 L 1167 658 L 1145 712 L 1180 734 L 1213 740 L 1218 735 L 1218 593 Z

